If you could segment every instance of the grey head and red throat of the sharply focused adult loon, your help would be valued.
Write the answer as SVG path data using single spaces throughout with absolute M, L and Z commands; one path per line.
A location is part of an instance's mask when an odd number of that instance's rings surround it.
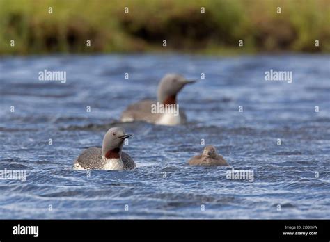
M 121 127 L 113 127 L 109 129 L 103 138 L 102 156 L 107 159 L 120 158 L 124 140 L 129 136 L 132 136 L 132 134 L 125 134 L 125 129 Z

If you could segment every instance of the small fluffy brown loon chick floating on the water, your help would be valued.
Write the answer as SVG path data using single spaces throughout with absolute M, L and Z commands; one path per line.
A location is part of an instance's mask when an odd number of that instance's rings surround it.
M 229 166 L 227 161 L 220 154 L 217 154 L 217 149 L 213 145 L 207 145 L 202 154 L 193 156 L 189 160 L 191 166 Z

